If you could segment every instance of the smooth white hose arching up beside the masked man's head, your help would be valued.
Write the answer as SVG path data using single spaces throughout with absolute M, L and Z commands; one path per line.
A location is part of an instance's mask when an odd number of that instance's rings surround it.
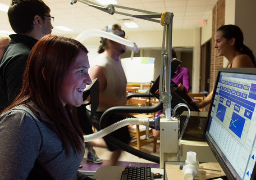
M 118 42 L 120 44 L 126 45 L 128 47 L 130 47 L 129 49 L 132 49 L 133 52 L 137 53 L 139 51 L 137 45 L 135 43 L 133 43 L 130 40 L 124 39 L 123 37 L 117 36 L 115 34 L 112 34 L 110 32 L 106 32 L 106 31 L 101 31 L 98 29 L 87 29 L 85 31 L 82 31 L 77 37 L 76 40 L 80 41 L 81 43 L 84 40 L 87 40 L 91 37 L 104 37 L 110 40 L 114 40 L 115 42 Z

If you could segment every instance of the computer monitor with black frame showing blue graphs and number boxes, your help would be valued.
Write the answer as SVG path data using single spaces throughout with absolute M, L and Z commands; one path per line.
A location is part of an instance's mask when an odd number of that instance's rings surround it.
M 219 68 L 204 135 L 229 180 L 255 180 L 256 68 Z

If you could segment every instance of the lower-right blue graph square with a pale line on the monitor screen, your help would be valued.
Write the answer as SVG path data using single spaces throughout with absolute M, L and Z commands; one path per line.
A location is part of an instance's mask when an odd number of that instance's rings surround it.
M 245 123 L 245 118 L 233 112 L 232 118 L 229 124 L 229 129 L 232 130 L 233 133 L 235 133 L 239 138 L 241 138 L 244 123 Z

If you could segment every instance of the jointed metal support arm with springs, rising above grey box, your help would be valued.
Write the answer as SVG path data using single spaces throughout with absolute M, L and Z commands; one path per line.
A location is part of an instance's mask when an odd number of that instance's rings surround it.
M 119 5 L 115 5 L 115 4 L 109 4 L 107 7 L 104 7 L 104 6 L 101 6 L 100 4 L 96 4 L 89 0 L 71 0 L 70 4 L 74 4 L 77 1 L 87 4 L 88 6 L 94 7 L 101 11 L 104 11 L 111 15 L 113 15 L 115 13 L 122 14 L 125 16 L 133 17 L 133 18 L 140 18 L 140 19 L 144 19 L 147 21 L 160 23 L 162 26 L 164 26 L 159 93 L 160 93 L 160 99 L 161 99 L 162 103 L 164 104 L 164 108 L 166 109 L 166 119 L 171 120 L 170 82 L 171 82 L 171 57 L 172 57 L 172 28 L 173 28 L 174 14 L 170 13 L 170 12 L 155 13 L 155 12 L 151 12 L 151 11 L 128 8 L 128 7 L 119 6 Z M 116 11 L 115 8 L 128 9 L 128 10 L 137 11 L 137 12 L 140 12 L 143 14 L 127 14 L 127 13 Z M 161 19 L 157 20 L 154 18 L 161 18 Z M 165 39 L 166 39 L 166 50 L 165 50 Z

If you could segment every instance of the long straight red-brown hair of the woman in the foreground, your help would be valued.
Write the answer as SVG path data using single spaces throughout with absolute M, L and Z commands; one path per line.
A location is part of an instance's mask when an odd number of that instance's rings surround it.
M 64 107 L 59 99 L 60 85 L 81 49 L 88 53 L 86 47 L 77 40 L 52 35 L 42 37 L 29 54 L 20 94 L 3 111 L 21 103 L 29 106 L 28 101 L 31 100 L 47 117 L 46 121 L 38 116 L 62 141 L 67 157 L 70 155 L 70 146 L 75 153 L 82 152 L 83 134 L 75 107 L 69 104 Z

